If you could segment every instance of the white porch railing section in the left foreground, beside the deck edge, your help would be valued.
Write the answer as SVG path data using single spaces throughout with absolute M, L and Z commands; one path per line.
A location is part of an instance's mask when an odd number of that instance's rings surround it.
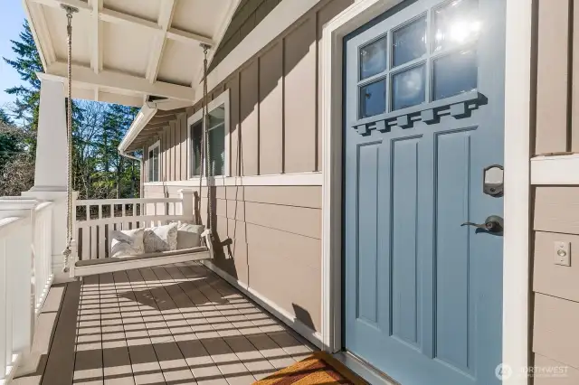
M 0 199 L 0 384 L 30 352 L 52 284 L 52 202 Z

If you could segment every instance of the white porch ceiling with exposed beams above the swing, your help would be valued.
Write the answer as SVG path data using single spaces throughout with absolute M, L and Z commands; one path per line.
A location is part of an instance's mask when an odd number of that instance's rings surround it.
M 192 104 L 203 73 L 200 43 L 216 45 L 240 0 L 23 0 L 44 71 L 66 76 L 72 20 L 72 96 L 159 109 Z M 211 54 L 211 53 L 210 53 Z

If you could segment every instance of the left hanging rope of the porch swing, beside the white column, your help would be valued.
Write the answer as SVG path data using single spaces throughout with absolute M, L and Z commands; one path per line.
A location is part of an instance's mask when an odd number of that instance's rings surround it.
M 69 271 L 69 258 L 71 257 L 71 242 L 72 242 L 72 14 L 79 12 L 77 8 L 69 5 L 61 5 L 66 11 L 66 18 L 68 24 L 66 26 L 66 35 L 68 38 L 68 101 L 66 103 L 66 136 L 68 138 L 68 151 L 66 153 L 66 248 L 62 251 L 64 256 L 64 268 L 62 271 L 67 273 Z

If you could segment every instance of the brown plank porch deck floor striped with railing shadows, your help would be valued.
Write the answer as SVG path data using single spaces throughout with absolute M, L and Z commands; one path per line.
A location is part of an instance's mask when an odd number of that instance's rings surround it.
M 39 330 L 51 319 L 55 326 Z M 311 352 L 195 262 L 52 287 L 35 346 L 42 340 L 48 348 L 37 371 L 14 384 L 246 385 Z

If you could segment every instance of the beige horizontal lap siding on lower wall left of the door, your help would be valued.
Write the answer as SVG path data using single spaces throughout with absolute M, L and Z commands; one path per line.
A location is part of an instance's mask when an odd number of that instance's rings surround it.
M 145 186 L 147 197 L 178 197 L 189 186 Z M 206 221 L 207 188 L 202 220 Z M 321 327 L 321 187 L 214 188 L 214 263 L 313 330 Z M 229 244 L 229 245 L 227 245 Z

